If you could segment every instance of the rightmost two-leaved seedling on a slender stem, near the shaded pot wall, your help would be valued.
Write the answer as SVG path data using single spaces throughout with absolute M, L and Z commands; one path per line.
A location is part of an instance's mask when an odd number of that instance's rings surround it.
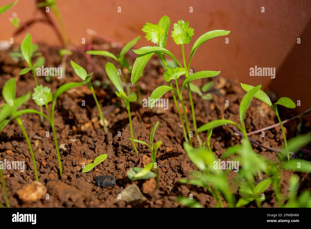
M 252 88 L 254 88 L 253 86 L 248 85 L 248 84 L 244 84 L 244 83 L 241 83 L 241 87 L 245 91 L 247 91 L 247 92 L 249 92 Z M 267 103 L 272 108 L 272 110 L 274 111 L 277 119 L 280 122 L 281 130 L 282 130 L 282 133 L 283 133 L 285 150 L 286 150 L 286 153 L 287 153 L 287 160 L 290 160 L 290 154 L 289 154 L 289 150 L 288 150 L 288 147 L 287 147 L 286 135 L 285 135 L 284 127 L 283 127 L 283 124 L 282 124 L 279 112 L 277 110 L 277 105 L 281 105 L 281 106 L 284 106 L 284 107 L 287 107 L 287 108 L 295 108 L 296 107 L 295 103 L 290 98 L 282 97 L 282 98 L 279 98 L 279 100 L 276 103 L 272 104 L 270 98 L 262 90 L 259 90 L 255 94 L 254 97 L 260 99 L 264 103 Z

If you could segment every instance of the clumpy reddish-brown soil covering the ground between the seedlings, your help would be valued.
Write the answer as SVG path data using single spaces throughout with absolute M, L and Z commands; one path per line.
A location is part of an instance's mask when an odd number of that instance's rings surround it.
M 100 46 L 100 44 L 99 44 Z M 117 54 L 118 49 L 112 48 L 105 44 L 104 47 L 109 51 Z M 96 47 L 102 49 L 103 47 Z M 61 60 L 58 56 L 58 48 L 44 46 L 43 53 L 48 54 L 46 66 L 57 67 Z M 20 70 L 25 66 L 24 61 L 15 63 L 8 56 L 9 51 L 0 51 L 0 88 L 11 77 L 17 81 L 17 96 L 21 96 L 35 87 L 35 82 L 31 73 L 24 76 L 18 75 Z M 130 64 L 134 58 L 127 56 Z M 87 60 L 83 53 L 75 51 L 68 57 L 66 78 L 52 78 L 50 83 L 46 83 L 43 77 L 39 77 L 39 84 L 47 85 L 55 93 L 63 83 L 72 81 L 81 81 L 70 66 L 70 60 L 74 60 L 81 66 L 93 70 L 95 79 L 100 80 L 101 87 L 95 88 L 95 93 L 102 106 L 102 111 L 106 120 L 109 122 L 109 133 L 104 134 L 103 127 L 100 126 L 98 110 L 94 99 L 87 86 L 73 88 L 67 93 L 62 94 L 57 101 L 55 110 L 55 126 L 58 137 L 58 144 L 64 144 L 65 147 L 61 152 L 63 165 L 63 175 L 58 175 L 58 162 L 54 146 L 53 135 L 50 130 L 49 122 L 39 122 L 39 116 L 26 114 L 22 116 L 25 129 L 30 136 L 31 144 L 35 153 L 36 165 L 39 170 L 39 181 L 45 184 L 49 199 L 45 197 L 35 202 L 23 202 L 18 197 L 18 190 L 23 189 L 25 185 L 31 184 L 34 177 L 30 152 L 26 140 L 17 125 L 16 121 L 10 122 L 5 129 L 0 132 L 0 160 L 20 160 L 25 161 L 26 171 L 3 170 L 7 193 L 12 207 L 178 207 L 179 203 L 175 202 L 176 196 L 188 196 L 190 193 L 196 198 L 202 206 L 213 207 L 216 202 L 212 195 L 204 188 L 193 185 L 180 184 L 178 181 L 185 178 L 193 170 L 197 169 L 189 160 L 183 150 L 183 133 L 179 117 L 174 107 L 174 101 L 170 93 L 165 94 L 169 98 L 169 109 L 163 108 L 150 109 L 141 107 L 137 103 L 131 104 L 132 122 L 134 128 L 134 137 L 143 141 L 149 139 L 152 126 L 159 121 L 154 139 L 162 141 L 162 145 L 157 154 L 157 163 L 159 170 L 160 190 L 156 190 L 155 181 L 139 180 L 131 182 L 126 176 L 126 171 L 130 167 L 137 166 L 138 157 L 133 151 L 130 137 L 128 113 L 123 104 L 115 96 L 111 85 L 103 89 L 104 82 L 108 79 L 104 72 L 104 64 L 111 59 L 104 57 L 92 56 L 92 64 L 86 65 Z M 114 61 L 111 61 L 114 63 Z M 116 64 L 116 63 L 114 63 Z M 144 76 L 139 79 L 139 84 L 143 88 L 142 98 L 150 96 L 153 89 L 166 82 L 163 77 L 163 68 L 159 65 L 156 58 L 150 60 L 144 70 Z M 197 80 L 195 83 L 202 86 L 210 79 Z M 206 101 L 193 93 L 195 103 L 197 126 L 201 126 L 211 120 L 219 118 L 228 118 L 239 122 L 239 103 L 245 92 L 241 89 L 238 82 L 228 81 L 221 76 L 214 77 L 214 87 L 211 90 L 213 99 Z M 181 83 L 181 81 L 179 82 Z M 132 88 L 135 90 L 136 88 Z M 271 94 L 272 98 L 276 98 Z M 187 93 L 184 93 L 185 104 L 188 107 L 188 117 L 192 120 L 190 103 Z M 81 106 L 82 100 L 85 100 L 86 106 Z M 225 101 L 229 101 L 229 106 L 225 106 Z M 0 103 L 4 103 L 1 97 Z M 21 109 L 32 108 L 38 109 L 35 103 L 30 100 Z M 293 111 L 281 110 L 281 119 L 291 117 Z M 276 117 L 273 111 L 258 99 L 253 99 L 246 114 L 245 125 L 247 131 L 254 131 L 260 128 L 270 126 L 276 123 Z M 289 122 L 285 125 L 287 138 L 295 135 L 299 120 Z M 191 123 L 192 126 L 192 123 Z M 310 122 L 303 121 L 302 133 L 311 129 Z M 50 137 L 46 137 L 46 131 L 50 131 Z M 118 137 L 118 131 L 121 137 Z M 201 139 L 206 138 L 206 133 L 200 133 Z M 283 136 L 280 127 L 265 131 L 265 137 L 260 134 L 251 136 L 253 140 L 260 142 L 262 145 L 280 149 L 283 144 Z M 219 127 L 213 131 L 211 137 L 211 146 L 216 156 L 220 157 L 225 149 L 229 146 L 238 144 L 239 136 L 234 135 L 230 126 Z M 196 139 L 193 138 L 195 145 Z M 150 150 L 141 144 L 137 144 L 140 156 L 146 155 L 151 158 Z M 66 150 L 67 149 L 67 150 Z M 307 149 L 310 149 L 310 147 Z M 278 162 L 275 152 L 267 151 L 261 147 L 254 146 L 255 152 L 267 157 L 268 159 Z M 96 171 L 88 173 L 81 172 L 82 163 L 89 163 L 97 155 L 108 154 L 108 158 L 96 167 Z M 148 163 L 148 158 L 143 157 L 143 164 Z M 310 160 L 308 156 L 304 159 Z M 113 187 L 98 187 L 95 182 L 95 176 L 112 175 L 116 179 L 116 185 Z M 287 192 L 288 180 L 292 172 L 283 171 L 281 174 L 281 185 L 283 192 Z M 234 181 L 234 172 L 229 173 L 229 180 L 232 190 L 237 193 L 237 185 Z M 310 174 L 299 174 L 304 176 L 300 185 L 300 190 L 311 188 Z M 258 179 L 258 178 L 257 178 Z M 124 188 L 130 184 L 137 184 L 142 190 L 146 201 L 140 203 L 125 203 L 120 200 L 115 202 Z M 4 204 L 3 191 L 0 189 L 1 199 Z M 226 204 L 225 204 L 226 206 Z M 247 207 L 255 206 L 253 203 Z M 276 207 L 276 200 L 271 189 L 267 190 L 267 201 L 263 203 L 264 207 Z

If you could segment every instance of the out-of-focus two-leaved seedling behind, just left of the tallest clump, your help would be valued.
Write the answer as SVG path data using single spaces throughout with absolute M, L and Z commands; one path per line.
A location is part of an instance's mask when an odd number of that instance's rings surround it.
M 121 69 L 121 74 L 123 76 L 125 85 L 126 85 L 126 93 L 130 93 L 130 88 L 129 88 L 129 84 L 128 84 L 128 79 L 126 78 L 126 75 L 124 74 L 124 68 L 128 69 L 128 71 L 131 73 L 132 72 L 132 67 L 130 66 L 130 64 L 128 63 L 128 61 L 125 59 L 124 55 L 128 52 L 128 50 L 130 50 L 132 48 L 133 45 L 135 45 L 137 43 L 137 41 L 140 39 L 140 36 L 137 36 L 136 38 L 134 38 L 132 41 L 129 41 L 121 50 L 120 54 L 117 56 L 115 56 L 114 54 L 112 54 L 111 52 L 108 51 L 102 51 L 102 50 L 90 50 L 90 51 L 86 51 L 87 54 L 90 55 L 101 55 L 101 56 L 106 56 L 106 57 L 110 57 L 113 60 L 117 61 L 120 69 Z M 138 99 L 139 101 L 141 101 L 140 98 L 140 88 L 138 86 L 138 84 L 136 84 L 137 86 L 137 93 L 138 93 Z

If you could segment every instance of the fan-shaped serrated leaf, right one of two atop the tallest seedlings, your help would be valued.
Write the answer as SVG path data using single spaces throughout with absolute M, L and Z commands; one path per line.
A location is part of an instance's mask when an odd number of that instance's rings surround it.
M 172 31 L 172 37 L 177 45 L 189 44 L 191 37 L 194 35 L 194 29 L 189 27 L 189 22 L 184 22 L 179 20 L 177 23 L 174 23 L 174 31 Z

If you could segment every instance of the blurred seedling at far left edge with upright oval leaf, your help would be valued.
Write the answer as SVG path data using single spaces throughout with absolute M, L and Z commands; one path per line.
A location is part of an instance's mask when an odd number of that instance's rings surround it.
M 7 83 L 4 85 L 3 87 L 3 90 L 2 90 L 2 96 L 5 100 L 5 102 L 7 103 L 6 105 L 7 106 L 12 106 L 14 104 L 14 101 L 16 101 L 16 81 L 15 79 L 11 78 L 7 81 Z M 20 98 L 23 98 L 23 97 L 20 97 Z M 25 100 L 24 102 L 26 103 L 28 101 L 28 99 L 30 99 L 30 93 L 27 93 L 25 96 L 24 96 Z M 19 99 L 19 98 L 17 98 Z M 27 101 L 26 101 L 27 99 Z M 11 112 L 11 115 L 13 117 L 16 116 L 16 112 L 17 110 L 13 110 Z M 29 151 L 30 151 L 30 155 L 31 155 L 31 159 L 32 159 L 32 163 L 33 163 L 33 166 L 34 166 L 34 172 L 35 172 L 35 179 L 36 181 L 39 181 L 39 178 L 38 178 L 38 173 L 37 173 L 37 166 L 36 166 L 36 161 L 35 161 L 35 156 L 34 156 L 34 152 L 32 150 L 32 146 L 31 146 L 31 143 L 29 141 L 29 137 L 27 135 L 27 132 L 24 128 L 24 125 L 23 125 L 23 122 L 21 121 L 21 118 L 19 116 L 15 117 L 15 120 L 17 122 L 17 124 L 21 127 L 21 130 L 23 131 L 23 134 L 26 138 L 26 141 L 27 141 L 27 145 L 29 147 Z M 1 124 L 0 124 L 0 131 L 4 128 L 4 126 L 10 121 L 10 119 L 8 120 L 4 120 Z

